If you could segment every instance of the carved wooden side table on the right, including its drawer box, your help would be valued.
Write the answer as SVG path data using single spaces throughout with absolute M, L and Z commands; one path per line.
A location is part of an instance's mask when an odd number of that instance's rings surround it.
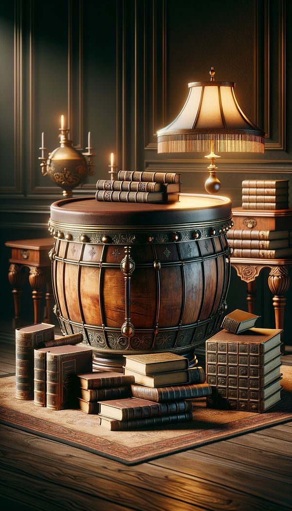
M 248 230 L 292 230 L 292 208 L 288 210 L 243 210 L 235 207 L 233 213 L 233 229 Z M 263 268 L 270 268 L 267 284 L 273 293 L 276 328 L 283 328 L 286 305 L 285 294 L 289 289 L 288 271 L 292 259 L 254 259 L 231 257 L 231 266 L 237 275 L 248 285 L 247 301 L 249 312 L 255 313 L 256 291 L 255 281 Z

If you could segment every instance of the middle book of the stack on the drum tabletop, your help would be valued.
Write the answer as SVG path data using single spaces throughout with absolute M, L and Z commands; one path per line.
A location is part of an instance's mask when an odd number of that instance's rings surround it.
M 181 192 L 181 183 L 155 183 L 152 181 L 119 181 L 111 179 L 99 179 L 96 183 L 97 190 L 115 190 L 118 192 Z

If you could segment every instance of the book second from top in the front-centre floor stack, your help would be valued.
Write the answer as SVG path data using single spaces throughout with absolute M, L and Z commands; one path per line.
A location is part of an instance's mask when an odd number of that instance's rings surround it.
M 166 385 L 183 385 L 185 383 L 200 383 L 205 381 L 205 371 L 202 367 L 191 367 L 181 371 L 171 371 L 169 373 L 158 373 L 154 375 L 143 375 L 133 369 L 124 369 L 125 375 L 133 375 L 135 383 L 147 385 L 148 387 L 164 387 Z

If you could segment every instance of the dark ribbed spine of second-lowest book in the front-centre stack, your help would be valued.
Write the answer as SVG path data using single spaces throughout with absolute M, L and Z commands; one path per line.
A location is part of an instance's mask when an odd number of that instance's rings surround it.
M 154 417 L 170 413 L 185 413 L 191 411 L 192 409 L 192 400 L 178 401 L 174 403 L 153 403 L 151 406 L 141 406 L 139 408 L 123 408 L 122 420 L 129 421 L 131 419 L 145 419 L 146 417 Z

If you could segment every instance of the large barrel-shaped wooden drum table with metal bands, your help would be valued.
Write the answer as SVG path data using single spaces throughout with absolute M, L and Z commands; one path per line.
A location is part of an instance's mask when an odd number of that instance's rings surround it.
M 231 201 L 182 194 L 136 204 L 63 199 L 49 230 L 55 311 L 82 332 L 94 367 L 121 370 L 123 354 L 172 352 L 194 363 L 218 328 L 230 276 Z

